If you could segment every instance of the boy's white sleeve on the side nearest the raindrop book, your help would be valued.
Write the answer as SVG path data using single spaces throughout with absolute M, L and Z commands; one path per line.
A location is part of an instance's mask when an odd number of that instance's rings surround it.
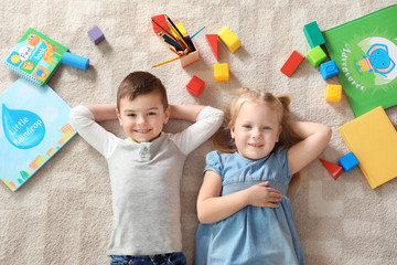
M 95 121 L 94 114 L 84 106 L 77 106 L 69 112 L 71 123 L 83 137 L 100 155 L 108 158 L 119 140 L 115 135 L 104 129 Z

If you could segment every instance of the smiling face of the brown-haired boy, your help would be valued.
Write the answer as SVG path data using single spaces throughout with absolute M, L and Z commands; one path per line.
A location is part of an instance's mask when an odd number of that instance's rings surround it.
M 117 117 L 126 135 L 138 142 L 151 141 L 162 131 L 170 118 L 170 107 L 164 110 L 160 93 L 149 93 L 130 100 L 120 99 Z

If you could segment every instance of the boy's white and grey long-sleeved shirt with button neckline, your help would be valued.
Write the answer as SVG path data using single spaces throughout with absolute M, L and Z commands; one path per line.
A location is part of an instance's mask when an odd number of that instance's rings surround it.
M 114 230 L 108 255 L 152 255 L 182 251 L 180 180 L 186 156 L 222 125 L 223 112 L 205 107 L 196 123 L 151 142 L 120 139 L 98 125 L 93 113 L 71 110 L 77 132 L 107 160 Z

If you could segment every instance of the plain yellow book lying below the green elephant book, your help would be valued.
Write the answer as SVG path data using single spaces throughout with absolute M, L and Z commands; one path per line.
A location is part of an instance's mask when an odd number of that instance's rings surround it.
M 383 107 L 341 126 L 339 132 L 358 159 L 372 189 L 397 177 L 397 131 Z

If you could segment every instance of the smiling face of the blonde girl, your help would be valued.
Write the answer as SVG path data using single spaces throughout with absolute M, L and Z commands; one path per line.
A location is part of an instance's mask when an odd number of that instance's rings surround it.
M 247 102 L 236 123 L 230 126 L 238 153 L 247 159 L 266 157 L 275 148 L 281 132 L 277 113 L 265 103 Z

